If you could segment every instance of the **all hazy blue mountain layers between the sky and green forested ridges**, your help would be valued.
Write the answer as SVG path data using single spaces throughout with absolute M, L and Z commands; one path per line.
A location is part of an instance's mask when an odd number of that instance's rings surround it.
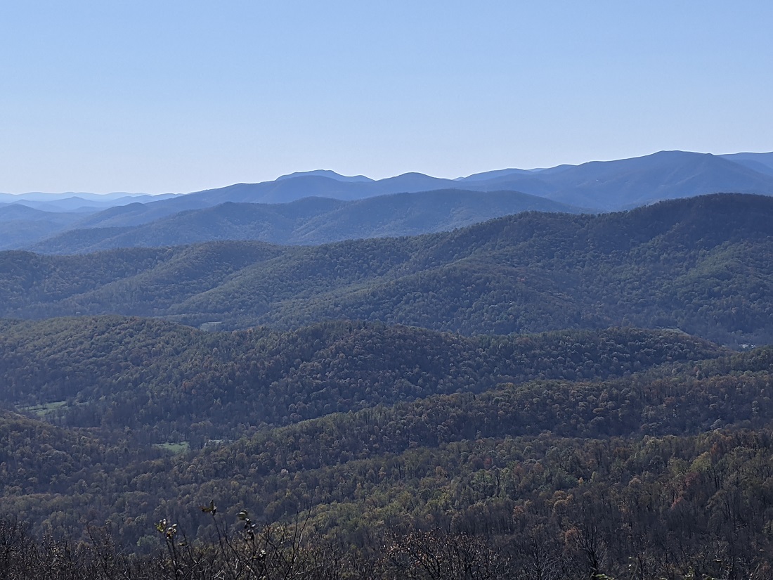
M 0 249 L 321 244 L 452 230 L 528 210 L 601 213 L 707 193 L 773 195 L 773 152 L 659 152 L 458 179 L 406 173 L 376 181 L 316 170 L 186 195 L 0 194 Z

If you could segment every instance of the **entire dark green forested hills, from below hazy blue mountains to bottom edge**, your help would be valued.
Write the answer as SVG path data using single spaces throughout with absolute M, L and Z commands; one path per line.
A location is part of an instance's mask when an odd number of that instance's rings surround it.
M 0 253 L 0 578 L 771 578 L 771 209 Z

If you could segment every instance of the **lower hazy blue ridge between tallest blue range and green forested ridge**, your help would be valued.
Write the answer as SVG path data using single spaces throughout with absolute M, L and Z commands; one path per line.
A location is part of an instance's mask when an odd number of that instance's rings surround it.
M 128 206 L 106 210 L 104 216 L 90 216 L 84 220 L 90 227 L 73 227 L 26 245 L 25 249 L 44 254 L 85 254 L 116 247 L 162 247 L 216 240 L 324 244 L 448 231 L 534 210 L 579 211 L 526 193 L 461 189 L 397 193 L 349 202 L 319 197 L 277 204 L 226 202 L 140 224 L 133 222 L 154 215 L 153 208 Z M 101 221 L 100 216 L 104 218 Z

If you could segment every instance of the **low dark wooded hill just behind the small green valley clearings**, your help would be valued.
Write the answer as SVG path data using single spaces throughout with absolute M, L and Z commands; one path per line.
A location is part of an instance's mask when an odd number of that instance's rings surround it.
M 603 379 L 723 352 L 637 329 L 469 338 L 357 322 L 284 333 L 119 317 L 3 322 L 0 401 L 47 404 L 63 425 L 124 425 L 146 442 L 201 446 L 376 404 L 538 377 Z

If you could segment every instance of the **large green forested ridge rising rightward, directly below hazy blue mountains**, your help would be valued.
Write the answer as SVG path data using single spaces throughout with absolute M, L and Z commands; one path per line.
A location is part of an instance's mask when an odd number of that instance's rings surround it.
M 771 218 L 771 198 L 717 195 L 318 247 L 3 252 L 0 313 L 164 316 L 223 329 L 365 319 L 468 335 L 632 325 L 764 344 L 773 340 Z

